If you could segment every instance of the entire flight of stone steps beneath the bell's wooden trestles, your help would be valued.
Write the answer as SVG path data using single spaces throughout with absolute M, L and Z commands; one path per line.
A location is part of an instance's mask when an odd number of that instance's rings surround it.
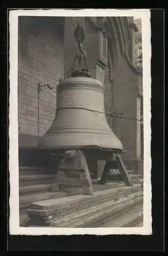
M 92 181 L 94 195 L 85 196 L 80 187 L 63 187 L 63 191 L 52 193 L 54 178 L 43 167 L 19 167 L 20 226 L 110 227 L 142 222 L 140 184 L 127 187 L 122 181 L 105 185 Z

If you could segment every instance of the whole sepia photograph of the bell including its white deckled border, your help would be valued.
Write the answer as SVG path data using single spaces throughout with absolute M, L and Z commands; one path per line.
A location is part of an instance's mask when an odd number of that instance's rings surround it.
M 108 12 L 11 15 L 13 234 L 152 232 L 150 12 Z

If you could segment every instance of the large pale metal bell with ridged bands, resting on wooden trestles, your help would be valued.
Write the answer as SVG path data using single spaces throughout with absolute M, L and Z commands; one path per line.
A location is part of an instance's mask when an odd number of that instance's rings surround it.
M 103 84 L 90 77 L 61 80 L 57 88 L 55 119 L 38 147 L 51 150 L 99 148 L 123 150 L 108 125 Z

